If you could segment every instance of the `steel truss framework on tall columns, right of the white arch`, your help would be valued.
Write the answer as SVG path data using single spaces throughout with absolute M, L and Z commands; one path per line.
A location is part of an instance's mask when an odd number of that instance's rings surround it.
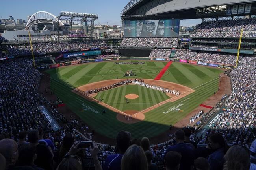
M 91 40 L 93 39 L 93 30 L 94 30 L 94 21 L 98 19 L 98 14 L 88 14 L 88 13 L 75 13 L 75 12 L 66 12 L 66 11 L 61 11 L 59 13 L 59 16 L 56 17 L 56 20 L 61 20 L 61 21 L 69 21 L 69 33 L 70 29 L 72 31 L 72 21 L 91 21 Z M 71 28 L 70 28 L 71 27 Z M 58 27 L 58 42 L 59 42 L 59 27 Z

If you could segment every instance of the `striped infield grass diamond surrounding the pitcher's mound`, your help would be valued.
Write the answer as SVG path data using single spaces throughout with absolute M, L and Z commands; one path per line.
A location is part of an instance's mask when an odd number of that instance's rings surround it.
M 123 98 L 121 97 L 122 94 L 124 94 Z M 128 94 L 137 94 L 139 97 L 137 99 L 128 99 L 129 103 L 126 103 L 125 95 Z M 101 98 L 102 102 L 121 111 L 141 111 L 149 108 L 150 106 L 154 106 L 155 104 L 165 101 L 170 97 L 158 90 L 145 88 L 139 85 L 128 84 L 113 88 L 111 90 L 101 91 L 95 96 L 95 99 L 99 98 Z

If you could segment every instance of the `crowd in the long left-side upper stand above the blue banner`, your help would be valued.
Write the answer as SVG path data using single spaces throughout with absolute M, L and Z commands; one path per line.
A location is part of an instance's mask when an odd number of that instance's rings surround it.
M 89 48 L 106 48 L 107 44 L 102 40 L 83 42 L 45 42 L 33 43 L 34 54 L 46 54 L 61 51 L 82 50 Z M 31 55 L 30 44 L 11 44 L 7 46 L 9 53 L 13 56 Z

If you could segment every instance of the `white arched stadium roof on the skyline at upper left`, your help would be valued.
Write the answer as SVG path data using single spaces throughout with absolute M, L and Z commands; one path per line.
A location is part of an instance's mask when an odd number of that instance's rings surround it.
M 46 11 L 38 11 L 29 18 L 26 27 L 44 23 L 52 24 L 53 22 L 57 22 L 55 15 Z M 63 26 L 64 24 L 59 20 L 59 25 Z

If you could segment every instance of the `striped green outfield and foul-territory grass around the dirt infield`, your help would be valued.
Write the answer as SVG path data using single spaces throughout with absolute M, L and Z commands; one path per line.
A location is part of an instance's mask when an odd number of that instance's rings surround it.
M 132 60 L 132 62 L 136 62 L 136 60 Z M 167 62 L 151 61 L 145 63 L 145 65 L 115 65 L 114 62 L 96 62 L 49 69 L 46 72 L 51 75 L 51 88 L 56 95 L 96 132 L 114 138 L 120 130 L 128 130 L 134 138 L 138 139 L 143 136 L 154 137 L 165 132 L 169 129 L 170 124 L 175 124 L 197 108 L 199 104 L 213 95 L 214 91 L 218 90 L 219 73 L 223 72 L 215 68 L 173 62 L 161 80 L 188 86 L 195 92 L 145 113 L 145 120 L 135 124 L 118 121 L 116 113 L 110 110 L 106 110 L 107 114 L 102 115 L 103 106 L 86 101 L 71 92 L 72 89 L 84 84 L 116 79 L 117 76 L 122 78 L 125 71 L 131 69 L 133 73 L 136 73 L 137 78 L 154 79 L 167 64 Z M 184 101 L 185 99 L 187 100 Z M 181 103 L 181 101 L 183 102 Z M 183 112 L 176 110 L 165 112 L 181 104 L 182 106 L 179 108 Z

